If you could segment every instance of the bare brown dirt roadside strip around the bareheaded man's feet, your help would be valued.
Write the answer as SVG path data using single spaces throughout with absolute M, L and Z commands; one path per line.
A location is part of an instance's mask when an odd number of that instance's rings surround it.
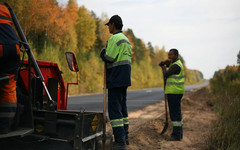
M 202 150 L 211 124 L 217 119 L 206 87 L 187 92 L 182 99 L 183 139 L 166 141 L 172 125 L 160 135 L 165 121 L 164 101 L 129 114 L 128 150 Z

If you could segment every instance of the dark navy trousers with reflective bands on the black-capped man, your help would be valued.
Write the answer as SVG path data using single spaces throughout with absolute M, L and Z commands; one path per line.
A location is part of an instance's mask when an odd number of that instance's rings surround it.
M 128 138 L 127 87 L 108 89 L 108 114 L 115 142 L 124 143 Z

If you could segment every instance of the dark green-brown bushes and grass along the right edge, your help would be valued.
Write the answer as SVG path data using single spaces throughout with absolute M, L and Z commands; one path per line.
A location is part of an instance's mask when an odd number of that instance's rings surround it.
M 227 66 L 210 80 L 219 120 L 214 124 L 209 149 L 235 150 L 240 143 L 240 66 Z

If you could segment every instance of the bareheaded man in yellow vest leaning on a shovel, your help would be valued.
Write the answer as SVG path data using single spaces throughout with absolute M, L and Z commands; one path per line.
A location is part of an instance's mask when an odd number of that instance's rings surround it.
M 171 49 L 168 52 L 168 59 L 160 62 L 163 70 L 164 79 L 166 81 L 165 94 L 168 99 L 168 107 L 173 125 L 169 141 L 180 141 L 183 138 L 183 120 L 181 114 L 181 99 L 184 90 L 184 67 L 179 59 L 177 49 Z M 166 67 L 169 67 L 166 70 Z

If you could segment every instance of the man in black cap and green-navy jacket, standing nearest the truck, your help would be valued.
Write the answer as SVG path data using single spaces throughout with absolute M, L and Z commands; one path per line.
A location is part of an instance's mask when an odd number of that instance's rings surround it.
M 108 114 L 115 139 L 113 149 L 122 150 L 129 144 L 127 87 L 131 86 L 132 46 L 122 33 L 120 16 L 112 16 L 105 25 L 113 35 L 100 56 L 107 63 Z

